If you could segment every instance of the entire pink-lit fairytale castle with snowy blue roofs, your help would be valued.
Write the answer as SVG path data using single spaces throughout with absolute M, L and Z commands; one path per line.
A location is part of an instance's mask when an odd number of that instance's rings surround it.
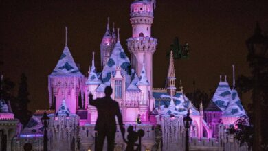
M 238 117 L 246 115 L 235 83 L 230 89 L 226 76 L 220 78 L 210 104 L 206 108 L 200 104 L 200 109 L 197 109 L 184 95 L 181 82 L 178 88 L 175 85 L 171 51 L 168 84 L 164 88 L 153 88 L 153 54 L 157 51 L 158 43 L 151 36 L 155 6 L 155 0 L 134 0 L 131 3 L 132 36 L 126 40 L 127 50 L 121 45 L 119 29 L 115 30 L 113 25 L 111 30 L 108 19 L 100 51 L 96 52 L 100 53 L 102 69 L 96 69 L 93 52 L 88 76 L 81 73 L 71 56 L 66 27 L 63 53 L 48 75 L 51 108 L 47 111 L 50 117 L 48 150 L 94 150 L 94 124 L 98 114 L 96 108 L 89 105 L 88 95 L 92 93 L 94 98 L 103 97 L 106 86 L 113 88 L 111 97 L 120 104 L 125 128 L 134 126 L 134 130 L 144 130 L 142 150 L 185 150 L 183 117 L 188 111 L 192 118 L 190 150 L 247 150 L 247 146 L 240 146 L 226 132 Z M 130 58 L 126 56 L 126 51 L 131 54 Z M 33 150 L 43 150 L 41 117 L 44 111 L 36 111 L 22 128 L 8 107 L 8 102 L 1 100 L 0 105 L 1 142 L 5 142 L 1 146 L 6 146 L 8 150 L 23 150 L 25 143 L 31 143 Z M 140 115 L 141 124 L 136 122 L 137 115 Z M 118 128 L 115 150 L 125 148 L 126 143 Z

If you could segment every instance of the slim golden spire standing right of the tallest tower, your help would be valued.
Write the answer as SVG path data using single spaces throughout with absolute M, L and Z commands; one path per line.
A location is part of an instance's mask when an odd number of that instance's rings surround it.
M 175 80 L 176 77 L 175 77 L 173 53 L 172 51 L 170 51 L 170 60 L 168 67 L 168 93 L 170 94 L 170 96 L 174 96 L 176 93 Z

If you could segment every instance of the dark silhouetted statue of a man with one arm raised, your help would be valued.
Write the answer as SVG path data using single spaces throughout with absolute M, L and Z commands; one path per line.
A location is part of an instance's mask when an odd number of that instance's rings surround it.
M 115 116 L 118 117 L 120 130 L 124 138 L 124 127 L 119 104 L 111 98 L 113 89 L 107 86 L 104 90 L 105 96 L 93 100 L 93 95 L 89 94 L 89 104 L 95 106 L 98 111 L 95 130 L 98 132 L 96 151 L 102 151 L 105 137 L 107 137 L 108 150 L 113 151 L 115 144 L 116 122 Z

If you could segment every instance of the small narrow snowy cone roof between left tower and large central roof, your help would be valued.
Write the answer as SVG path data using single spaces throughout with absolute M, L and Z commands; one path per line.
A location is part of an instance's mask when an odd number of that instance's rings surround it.
M 100 79 L 98 78 L 98 75 L 96 73 L 96 68 L 95 68 L 95 62 L 94 62 L 94 52 L 93 54 L 93 58 L 92 58 L 92 66 L 91 69 L 89 69 L 89 77 L 87 78 L 87 85 L 98 85 L 101 84 Z

